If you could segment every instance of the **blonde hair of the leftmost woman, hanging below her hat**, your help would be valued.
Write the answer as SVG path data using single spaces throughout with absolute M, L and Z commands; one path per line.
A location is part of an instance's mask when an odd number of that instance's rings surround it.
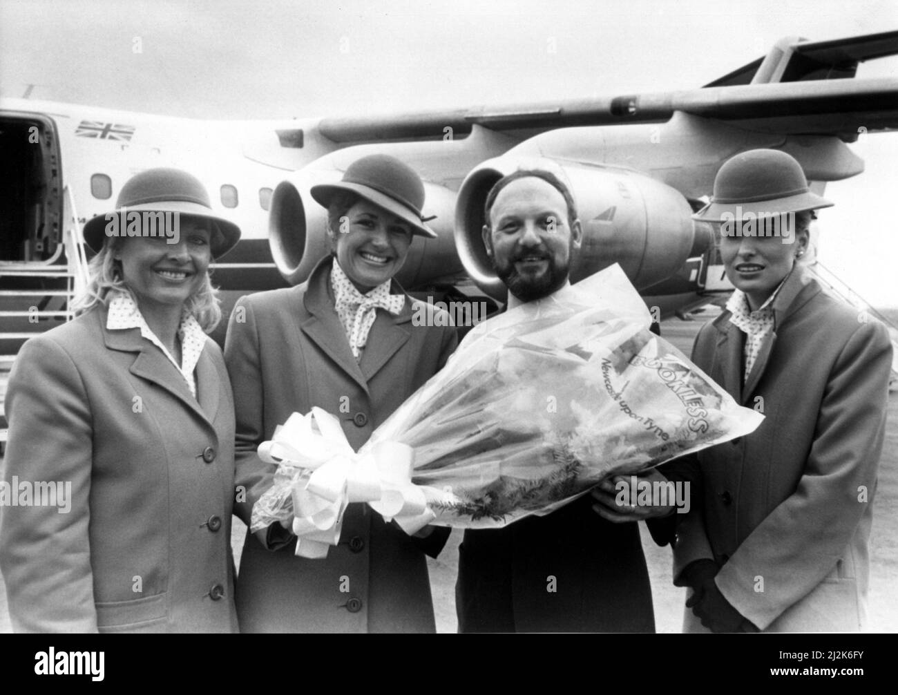
M 136 296 L 121 277 L 121 261 L 115 258 L 114 251 L 119 248 L 122 241 L 121 237 L 107 238 L 100 252 L 88 263 L 90 279 L 84 292 L 76 296 L 72 303 L 75 316 L 90 312 L 100 304 L 105 305 L 110 293 L 123 292 L 130 295 L 136 303 Z M 193 314 L 200 328 L 207 333 L 212 332 L 221 321 L 222 310 L 219 306 L 218 290 L 212 286 L 208 271 L 198 290 L 189 296 L 185 306 Z

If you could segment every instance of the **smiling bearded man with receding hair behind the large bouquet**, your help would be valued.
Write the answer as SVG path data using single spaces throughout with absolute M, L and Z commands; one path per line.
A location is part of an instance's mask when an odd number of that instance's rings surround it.
M 483 243 L 508 287 L 506 308 L 573 291 L 569 269 L 582 229 L 559 176 L 509 174 L 489 191 L 485 214 Z M 654 632 L 638 526 L 612 523 L 602 502 L 585 495 L 549 515 L 465 531 L 459 631 Z

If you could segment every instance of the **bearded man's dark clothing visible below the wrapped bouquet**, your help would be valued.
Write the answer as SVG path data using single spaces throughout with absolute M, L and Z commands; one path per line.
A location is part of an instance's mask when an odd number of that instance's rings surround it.
M 652 324 L 657 332 L 656 324 Z M 611 523 L 580 497 L 459 547 L 460 632 L 654 632 L 636 523 Z

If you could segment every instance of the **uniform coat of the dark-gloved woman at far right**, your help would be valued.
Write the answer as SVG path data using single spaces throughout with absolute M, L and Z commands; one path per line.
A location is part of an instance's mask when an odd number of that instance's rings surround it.
M 721 593 L 759 629 L 857 630 L 892 348 L 880 323 L 802 268 L 772 306 L 774 330 L 744 385 L 744 333 L 729 312 L 695 341 L 696 365 L 765 419 L 696 456 L 702 503 L 679 526 L 674 577 L 712 558 Z

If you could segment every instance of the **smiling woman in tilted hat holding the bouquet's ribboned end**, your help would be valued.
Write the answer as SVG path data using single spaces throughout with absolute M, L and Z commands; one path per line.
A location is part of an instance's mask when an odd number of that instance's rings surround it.
M 456 345 L 448 317 L 411 321 L 422 307 L 392 280 L 413 235 L 435 236 L 421 221 L 418 175 L 393 157 L 372 155 L 312 195 L 328 208 L 332 254 L 303 285 L 242 297 L 228 327 L 236 510 L 246 523 L 276 469 L 256 449 L 277 425 L 318 406 L 339 418 L 358 449 Z M 420 536 L 361 503 L 348 506 L 327 559 L 295 557 L 296 539 L 279 524 L 248 532 L 237 585 L 241 628 L 435 631 L 425 555 L 436 557 L 448 530 L 427 527 Z

